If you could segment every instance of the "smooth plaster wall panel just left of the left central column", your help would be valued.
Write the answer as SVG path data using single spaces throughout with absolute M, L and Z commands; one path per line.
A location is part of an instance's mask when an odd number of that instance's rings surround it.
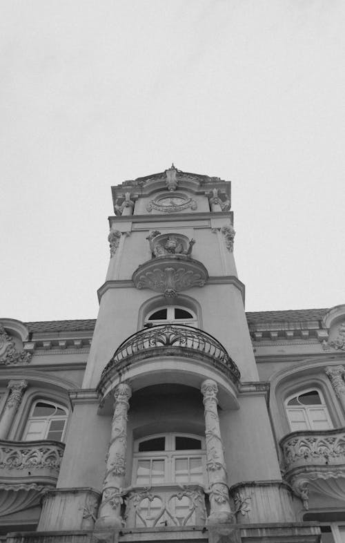
M 83 403 L 73 410 L 57 488 L 88 486 L 101 490 L 111 417 L 97 415 L 97 406 Z

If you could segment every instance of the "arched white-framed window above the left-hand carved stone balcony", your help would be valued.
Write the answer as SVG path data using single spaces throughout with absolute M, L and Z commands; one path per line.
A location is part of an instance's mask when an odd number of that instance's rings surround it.
M 66 430 L 68 410 L 58 403 L 39 399 L 34 401 L 24 430 L 23 440 L 53 439 L 62 441 Z

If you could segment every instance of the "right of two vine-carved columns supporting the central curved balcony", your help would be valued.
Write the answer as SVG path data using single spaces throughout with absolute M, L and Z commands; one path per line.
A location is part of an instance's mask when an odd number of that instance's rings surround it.
M 230 508 L 226 464 L 217 410 L 217 383 L 206 379 L 201 384 L 205 406 L 206 466 L 208 471 L 210 516 L 208 524 L 234 522 Z

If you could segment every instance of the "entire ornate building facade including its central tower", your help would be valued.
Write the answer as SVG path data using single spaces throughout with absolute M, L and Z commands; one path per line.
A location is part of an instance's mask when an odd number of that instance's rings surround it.
M 97 320 L 0 319 L 1 538 L 344 543 L 345 305 L 246 314 L 230 182 L 112 198 Z

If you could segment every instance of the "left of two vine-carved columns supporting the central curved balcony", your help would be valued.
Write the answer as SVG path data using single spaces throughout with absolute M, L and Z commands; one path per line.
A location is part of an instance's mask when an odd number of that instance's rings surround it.
M 114 392 L 114 415 L 106 461 L 106 476 L 103 482 L 103 495 L 99 506 L 99 518 L 95 524 L 96 528 L 121 529 L 124 526 L 121 517 L 121 504 L 126 474 L 128 400 L 131 395 L 130 387 L 126 383 L 118 385 Z

